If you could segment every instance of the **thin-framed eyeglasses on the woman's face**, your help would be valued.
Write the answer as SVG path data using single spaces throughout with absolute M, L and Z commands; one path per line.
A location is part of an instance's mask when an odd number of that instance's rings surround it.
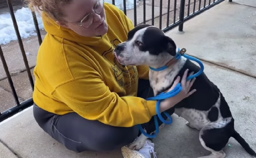
M 70 22 L 73 25 L 77 25 L 80 27 L 83 27 L 85 29 L 89 28 L 89 26 L 92 24 L 93 21 L 93 16 L 92 14 L 100 14 L 104 9 L 104 0 L 98 0 L 97 4 L 93 7 L 93 12 L 91 14 L 86 15 L 82 20 L 81 20 L 81 25 L 75 24 Z

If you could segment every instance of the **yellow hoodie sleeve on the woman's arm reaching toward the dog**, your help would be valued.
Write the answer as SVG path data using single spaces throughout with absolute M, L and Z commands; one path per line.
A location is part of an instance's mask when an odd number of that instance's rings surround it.
M 111 92 L 93 68 L 86 67 L 83 77 L 71 79 L 55 88 L 52 95 L 74 112 L 89 120 L 118 127 L 148 122 L 156 115 L 156 101 L 139 97 L 119 97 Z

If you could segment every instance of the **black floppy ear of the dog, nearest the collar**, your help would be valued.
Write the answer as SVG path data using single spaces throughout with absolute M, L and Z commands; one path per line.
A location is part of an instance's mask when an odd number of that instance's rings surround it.
M 161 40 L 161 45 L 164 51 L 172 56 L 176 55 L 176 44 L 170 37 L 164 35 Z

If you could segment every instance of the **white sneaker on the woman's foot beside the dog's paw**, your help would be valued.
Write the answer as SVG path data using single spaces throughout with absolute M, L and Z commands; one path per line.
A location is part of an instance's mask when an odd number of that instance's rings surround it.
M 157 158 L 154 152 L 154 143 L 150 140 L 146 140 L 144 146 L 139 151 L 131 150 L 127 146 L 123 146 L 121 149 L 124 158 L 152 158 L 151 154 L 153 154 L 153 158 Z

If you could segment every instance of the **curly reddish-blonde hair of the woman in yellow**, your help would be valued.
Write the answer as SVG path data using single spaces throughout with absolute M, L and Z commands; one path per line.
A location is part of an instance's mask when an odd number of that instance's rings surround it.
M 62 20 L 64 14 L 61 6 L 69 4 L 72 0 L 24 0 L 31 10 L 43 11 L 55 20 Z

